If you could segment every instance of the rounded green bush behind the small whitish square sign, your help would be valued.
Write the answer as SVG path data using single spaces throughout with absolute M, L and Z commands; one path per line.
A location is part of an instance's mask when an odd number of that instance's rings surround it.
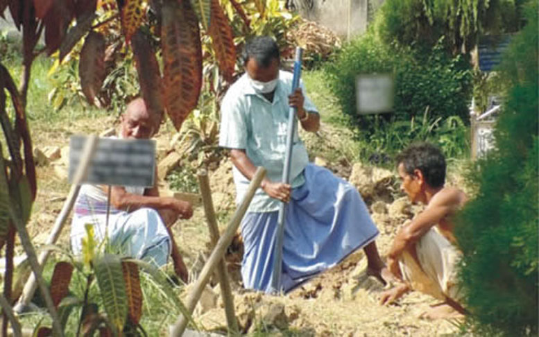
M 467 153 L 465 123 L 472 73 L 463 57 L 445 53 L 443 40 L 420 51 L 381 43 L 371 32 L 345 46 L 325 71 L 332 92 L 364 144 L 362 157 L 391 155 L 418 140 L 437 143 L 448 157 Z M 359 116 L 356 76 L 383 73 L 395 78 L 393 112 Z

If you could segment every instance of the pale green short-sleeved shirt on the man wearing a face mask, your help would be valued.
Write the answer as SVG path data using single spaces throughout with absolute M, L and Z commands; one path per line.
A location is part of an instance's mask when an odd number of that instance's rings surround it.
M 284 154 L 286 152 L 286 130 L 288 129 L 289 101 L 292 92 L 293 74 L 279 72 L 273 102 L 269 102 L 251 87 L 248 75 L 243 74 L 234 83 L 221 103 L 221 132 L 219 145 L 225 148 L 246 150 L 247 157 L 255 166 L 264 166 L 266 176 L 272 182 L 282 180 Z M 318 113 L 314 104 L 305 95 L 303 107 Z M 302 171 L 309 164 L 309 156 L 298 135 L 294 134 L 290 181 L 292 187 L 305 182 Z M 236 202 L 243 200 L 249 180 L 234 166 L 232 169 L 236 185 Z M 279 200 L 270 198 L 262 189 L 257 189 L 249 211 L 268 212 L 279 209 Z

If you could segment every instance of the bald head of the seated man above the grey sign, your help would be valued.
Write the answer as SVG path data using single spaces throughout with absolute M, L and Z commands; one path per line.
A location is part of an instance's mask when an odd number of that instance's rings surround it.
M 146 103 L 142 98 L 135 98 L 127 105 L 121 115 L 121 136 L 123 138 L 148 139 L 155 133 L 155 127 Z

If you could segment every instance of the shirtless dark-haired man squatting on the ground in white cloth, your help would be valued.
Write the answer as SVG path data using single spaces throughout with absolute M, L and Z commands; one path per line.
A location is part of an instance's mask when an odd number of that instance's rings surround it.
M 411 202 L 427 205 L 411 223 L 401 228 L 388 254 L 388 268 L 401 282 L 382 294 L 382 304 L 408 291 L 422 291 L 442 300 L 428 313 L 431 318 L 465 313 L 456 284 L 459 251 L 454 247 L 452 216 L 467 198 L 460 189 L 444 187 L 445 158 L 438 148 L 419 143 L 397 156 L 401 189 Z

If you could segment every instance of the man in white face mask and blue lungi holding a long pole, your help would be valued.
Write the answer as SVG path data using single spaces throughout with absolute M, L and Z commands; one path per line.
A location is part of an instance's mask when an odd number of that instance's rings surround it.
M 245 253 L 241 276 L 246 288 L 271 291 L 275 232 L 280 202 L 288 202 L 284 226 L 281 290 L 291 291 L 310 277 L 363 248 L 369 275 L 384 282 L 375 237 L 378 230 L 357 190 L 325 168 L 309 164 L 307 150 L 293 139 L 291 184 L 281 181 L 289 106 L 300 126 L 316 132 L 320 116 L 293 75 L 280 71 L 280 53 L 271 37 L 255 37 L 243 52 L 246 73 L 221 104 L 219 144 L 230 149 L 237 202 L 243 199 L 257 166 L 267 170 L 241 223 Z

